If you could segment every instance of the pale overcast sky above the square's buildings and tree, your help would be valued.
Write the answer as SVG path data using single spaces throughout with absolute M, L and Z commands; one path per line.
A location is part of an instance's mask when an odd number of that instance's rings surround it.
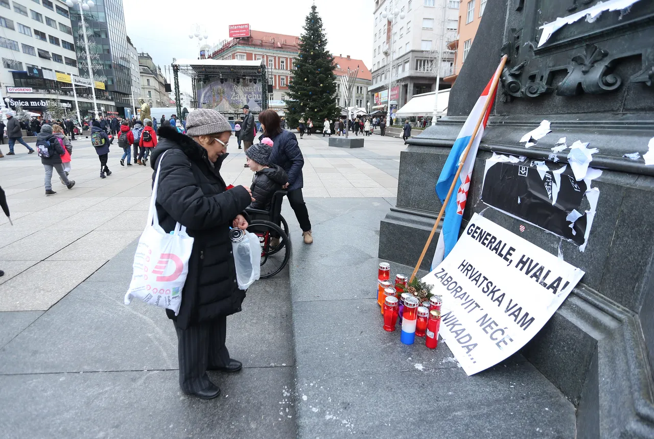
M 125 25 L 139 52 L 148 52 L 162 67 L 177 59 L 197 58 L 198 39 L 189 39 L 191 26 L 207 30 L 212 46 L 228 39 L 228 25 L 250 24 L 250 29 L 300 36 L 311 12 L 310 0 L 294 0 L 292 7 L 271 0 L 123 0 Z M 332 54 L 372 63 L 373 1 L 315 0 Z M 203 41 L 204 43 L 204 41 Z M 169 79 L 172 81 L 172 77 Z M 180 74 L 181 91 L 191 91 Z

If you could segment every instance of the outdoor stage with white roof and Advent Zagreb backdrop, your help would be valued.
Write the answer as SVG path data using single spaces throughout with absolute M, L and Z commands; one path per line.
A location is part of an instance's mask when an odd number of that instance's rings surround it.
M 191 78 L 192 108 L 212 108 L 228 119 L 237 118 L 243 105 L 254 114 L 268 108 L 269 86 L 263 61 L 238 59 L 173 59 L 175 102 L 181 118 L 179 73 Z

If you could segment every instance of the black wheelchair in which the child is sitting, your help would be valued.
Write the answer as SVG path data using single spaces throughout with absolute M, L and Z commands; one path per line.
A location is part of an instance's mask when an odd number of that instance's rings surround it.
M 271 278 L 286 267 L 290 259 L 288 223 L 281 215 L 286 191 L 276 191 L 270 210 L 246 208 L 247 231 L 259 237 L 261 244 L 261 279 Z

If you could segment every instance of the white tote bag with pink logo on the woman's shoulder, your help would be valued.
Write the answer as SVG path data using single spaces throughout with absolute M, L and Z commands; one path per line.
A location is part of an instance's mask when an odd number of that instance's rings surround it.
M 193 238 L 186 234 L 186 227 L 180 223 L 175 225 L 175 230 L 171 233 L 165 233 L 159 225 L 154 204 L 161 163 L 166 152 L 159 159 L 154 177 L 148 222 L 134 255 L 133 274 L 125 295 L 125 304 L 128 305 L 133 297 L 137 297 L 151 305 L 173 310 L 177 316 L 182 304 L 182 288 L 188 274 Z

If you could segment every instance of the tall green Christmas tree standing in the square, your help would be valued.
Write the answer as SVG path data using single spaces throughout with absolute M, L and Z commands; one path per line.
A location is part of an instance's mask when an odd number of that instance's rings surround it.
M 336 66 L 326 47 L 322 19 L 313 5 L 300 38 L 293 80 L 288 84 L 286 120 L 292 129 L 298 127 L 300 118 L 311 118 L 314 130 L 322 131 L 324 118 L 334 120 L 340 112 L 336 105 Z

